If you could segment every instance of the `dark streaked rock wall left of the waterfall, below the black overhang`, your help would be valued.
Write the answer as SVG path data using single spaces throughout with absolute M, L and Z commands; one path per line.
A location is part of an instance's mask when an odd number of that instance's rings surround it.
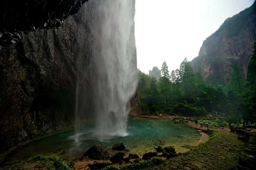
M 84 3 L 60 28 L 20 32 L 11 43 L 2 41 L 0 151 L 24 140 L 72 128 L 76 95 L 84 103 L 81 107 L 85 116 L 93 114 L 91 87 L 95 85 L 97 57 L 93 53 L 97 46 L 94 34 L 98 6 L 102 2 Z M 132 12 L 134 15 L 135 3 Z M 131 48 L 135 51 L 134 69 L 137 69 L 134 36 L 131 39 Z

